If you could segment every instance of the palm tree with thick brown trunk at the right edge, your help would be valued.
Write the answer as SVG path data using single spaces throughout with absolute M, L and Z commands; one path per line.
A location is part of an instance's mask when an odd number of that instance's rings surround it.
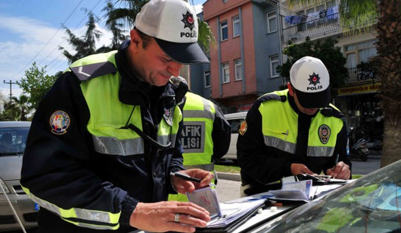
M 313 4 L 317 0 L 289 0 L 290 4 Z M 381 164 L 401 159 L 401 1 L 341 0 L 340 22 L 347 30 L 364 30 L 378 18 L 376 29 L 377 76 L 381 79 L 384 133 Z

